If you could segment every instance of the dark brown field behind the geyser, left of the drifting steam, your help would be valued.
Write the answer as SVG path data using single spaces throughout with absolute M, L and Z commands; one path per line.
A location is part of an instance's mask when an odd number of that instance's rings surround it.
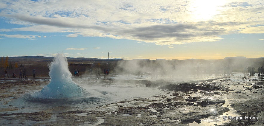
M 48 77 L 49 74 L 49 64 L 52 62 L 53 57 L 50 58 L 12 58 L 9 59 L 9 65 L 6 67 L 1 67 L 0 77 L 4 78 L 4 70 L 7 69 L 8 77 L 12 77 L 15 73 L 16 77 L 19 77 L 20 70 L 26 70 L 27 77 L 33 77 L 33 69 L 36 70 L 36 77 Z M 86 58 L 68 58 L 69 70 L 74 73 L 74 69 L 79 69 L 79 75 L 83 74 L 95 74 L 95 69 L 101 71 L 103 74 L 103 69 L 109 68 L 114 71 L 117 63 L 116 60 L 108 59 L 86 59 Z M 110 65 L 111 64 L 111 65 Z M 11 65 L 11 66 L 10 66 Z

